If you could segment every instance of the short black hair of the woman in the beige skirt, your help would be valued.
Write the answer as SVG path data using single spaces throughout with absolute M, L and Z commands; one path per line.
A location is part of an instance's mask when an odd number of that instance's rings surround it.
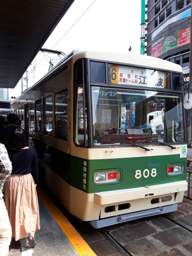
M 22 128 L 14 129 L 9 135 L 9 144 L 11 148 L 21 149 L 28 147 L 29 142 Z

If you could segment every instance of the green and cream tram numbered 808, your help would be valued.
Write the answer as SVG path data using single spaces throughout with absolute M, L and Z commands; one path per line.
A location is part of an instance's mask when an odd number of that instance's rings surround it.
M 158 58 L 72 52 L 12 103 L 69 212 L 100 228 L 177 210 L 187 189 L 181 77 Z

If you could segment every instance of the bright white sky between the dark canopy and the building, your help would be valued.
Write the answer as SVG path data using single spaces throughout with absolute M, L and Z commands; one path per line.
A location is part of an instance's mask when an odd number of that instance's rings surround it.
M 90 5 L 91 7 L 85 12 Z M 83 16 L 79 19 L 82 14 Z M 68 31 L 75 22 L 76 24 Z M 140 22 L 141 0 L 75 0 L 43 48 L 59 50 L 66 54 L 74 49 L 128 53 L 131 45 L 130 54 L 138 55 L 140 54 Z M 66 32 L 67 34 L 63 36 Z M 31 72 L 33 66 L 36 66 L 35 72 L 28 73 L 29 86 L 35 84 L 47 73 L 50 57 L 58 59 L 57 55 L 51 54 L 44 58 L 42 52 L 36 55 L 28 68 Z M 53 61 L 58 62 L 58 60 Z M 26 76 L 26 73 L 23 76 Z M 23 81 L 23 85 L 26 85 L 26 81 Z M 25 89 L 26 86 L 23 87 L 23 90 Z M 9 100 L 11 96 L 18 97 L 20 94 L 21 81 L 14 89 L 9 89 Z

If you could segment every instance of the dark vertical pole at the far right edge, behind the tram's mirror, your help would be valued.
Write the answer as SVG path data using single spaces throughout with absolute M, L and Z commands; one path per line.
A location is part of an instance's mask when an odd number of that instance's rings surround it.
M 192 13 L 192 4 L 191 4 Z M 192 24 L 192 18 L 190 19 Z M 190 56 L 189 56 L 189 86 L 190 92 L 192 92 L 192 26 L 190 27 Z M 191 148 L 191 136 L 192 136 L 192 109 L 188 110 L 188 148 Z

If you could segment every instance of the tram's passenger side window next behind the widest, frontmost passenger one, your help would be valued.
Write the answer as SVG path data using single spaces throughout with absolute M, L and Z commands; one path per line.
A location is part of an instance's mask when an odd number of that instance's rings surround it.
M 44 98 L 44 134 L 52 136 L 52 95 Z

